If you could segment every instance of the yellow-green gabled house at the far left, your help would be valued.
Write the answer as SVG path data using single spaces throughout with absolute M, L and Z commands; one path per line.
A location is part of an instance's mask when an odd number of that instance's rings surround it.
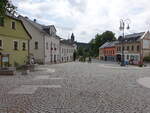
M 8 14 L 0 17 L 0 66 L 19 67 L 26 64 L 31 38 L 17 17 Z

